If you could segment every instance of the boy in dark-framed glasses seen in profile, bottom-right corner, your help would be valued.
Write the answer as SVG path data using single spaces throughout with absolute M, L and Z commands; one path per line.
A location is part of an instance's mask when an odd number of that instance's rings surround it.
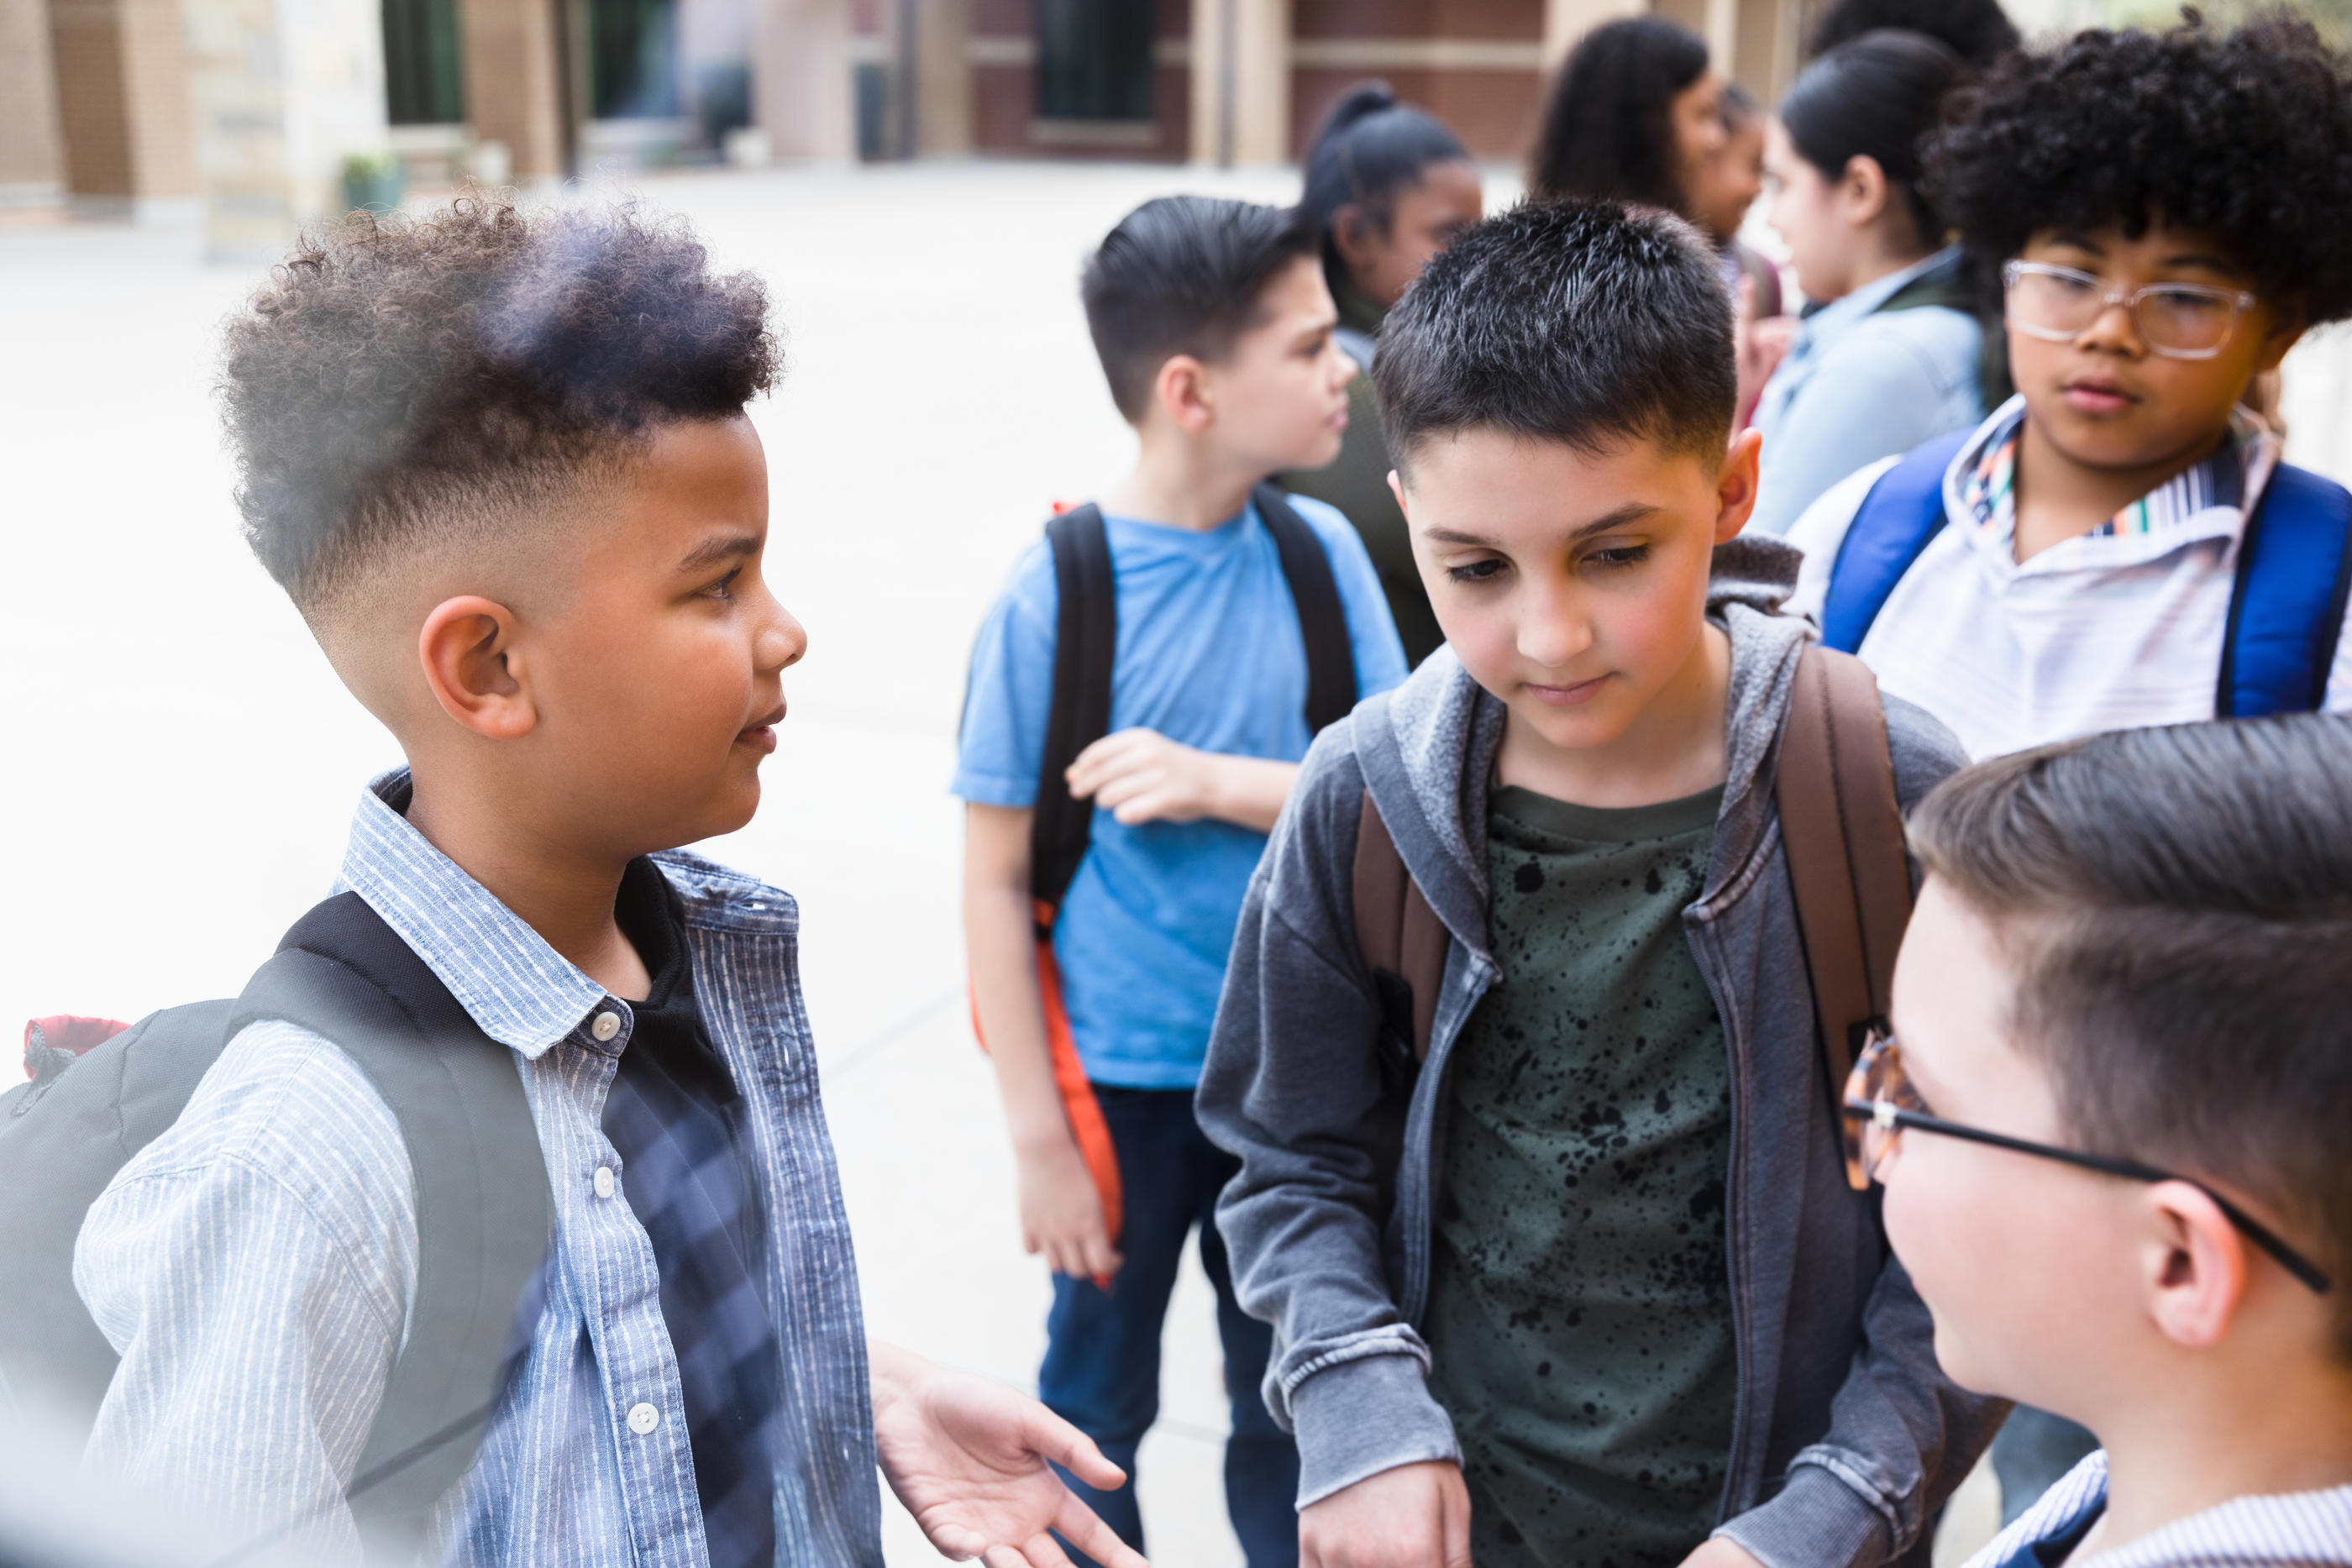
M 2352 719 L 1945 780 L 1849 1178 L 1962 1387 L 2103 1450 L 1971 1568 L 2352 1563 Z

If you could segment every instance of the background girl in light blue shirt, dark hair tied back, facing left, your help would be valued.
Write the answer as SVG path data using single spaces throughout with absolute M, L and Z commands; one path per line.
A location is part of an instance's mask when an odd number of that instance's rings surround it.
M 1771 226 L 1813 310 L 1755 411 L 1752 529 L 1788 534 L 1853 470 L 1985 416 L 1976 292 L 1919 190 L 1919 141 L 1962 73 L 1933 38 L 1865 33 L 1806 66 L 1766 132 Z

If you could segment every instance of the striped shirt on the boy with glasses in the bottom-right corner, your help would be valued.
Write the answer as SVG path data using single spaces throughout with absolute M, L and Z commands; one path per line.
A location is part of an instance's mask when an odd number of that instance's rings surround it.
M 2107 1507 L 2107 1455 L 2093 1453 L 1969 1559 L 1969 1568 L 2044 1568 L 2037 1547 L 2077 1540 Z M 2065 1568 L 2352 1568 L 2352 1486 L 2232 1497 Z

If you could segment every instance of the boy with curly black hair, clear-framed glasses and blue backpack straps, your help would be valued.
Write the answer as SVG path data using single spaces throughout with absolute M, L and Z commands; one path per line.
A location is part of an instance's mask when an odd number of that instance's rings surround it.
M 2284 16 L 2082 33 L 1997 63 L 1926 174 L 2018 395 L 1823 494 L 1792 607 L 1973 757 L 2352 705 L 2352 494 L 2244 407 L 2352 315 L 2347 59 Z

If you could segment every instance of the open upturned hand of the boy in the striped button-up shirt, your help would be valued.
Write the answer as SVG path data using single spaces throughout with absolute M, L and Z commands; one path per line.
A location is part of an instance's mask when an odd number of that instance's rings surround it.
M 1070 1568 L 1047 1530 L 1103 1563 L 1150 1568 L 1051 1465 L 1087 1486 L 1127 1474 L 1094 1441 L 1025 1394 L 950 1373 L 896 1345 L 870 1345 L 882 1476 L 943 1556 L 988 1568 Z

